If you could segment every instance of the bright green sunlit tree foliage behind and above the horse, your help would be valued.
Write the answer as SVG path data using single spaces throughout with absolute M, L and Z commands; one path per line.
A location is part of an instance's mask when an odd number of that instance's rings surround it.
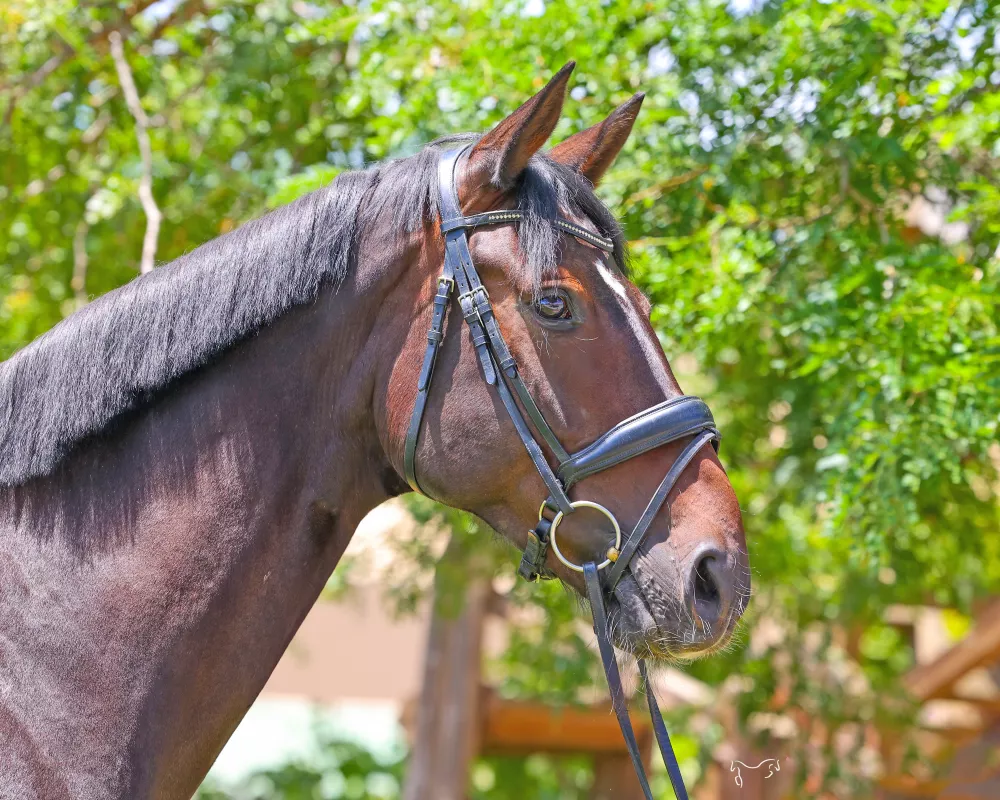
M 909 662 L 885 607 L 1000 587 L 998 19 L 992 0 L 6 0 L 0 357 L 135 274 L 111 30 L 151 119 L 160 260 L 342 169 L 483 130 L 576 59 L 555 140 L 647 92 L 600 191 L 746 511 L 757 600 L 690 672 L 746 678 L 744 722 L 897 718 Z M 521 592 L 550 613 L 491 669 L 511 696 L 568 702 L 593 676 L 575 601 Z M 755 646 L 762 620 L 785 638 Z M 865 626 L 867 700 L 782 657 L 836 661 L 831 631 Z M 835 772 L 834 789 L 867 780 Z

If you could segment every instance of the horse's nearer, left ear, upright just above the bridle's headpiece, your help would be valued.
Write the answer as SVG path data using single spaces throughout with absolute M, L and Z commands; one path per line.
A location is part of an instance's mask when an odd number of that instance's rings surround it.
M 514 185 L 559 121 L 575 66 L 570 61 L 538 94 L 476 143 L 465 168 L 465 188 L 506 191 Z

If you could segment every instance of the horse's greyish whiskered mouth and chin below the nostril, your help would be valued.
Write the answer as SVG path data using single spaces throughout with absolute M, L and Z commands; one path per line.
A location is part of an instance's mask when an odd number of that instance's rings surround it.
M 704 658 L 725 647 L 731 631 L 705 637 L 680 603 L 654 615 L 635 578 L 626 574 L 607 600 L 611 641 L 619 650 L 652 662 Z

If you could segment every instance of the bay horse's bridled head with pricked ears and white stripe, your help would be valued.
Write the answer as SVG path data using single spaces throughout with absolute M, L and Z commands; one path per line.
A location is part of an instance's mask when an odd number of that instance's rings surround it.
M 642 95 L 543 152 L 571 70 L 485 136 L 439 145 L 452 149 L 398 289 L 411 331 L 385 375 L 381 435 L 413 488 L 527 547 L 527 575 L 580 592 L 584 563 L 613 575 L 620 646 L 694 657 L 727 639 L 749 595 L 740 509 L 711 415 L 684 397 L 593 191 Z

